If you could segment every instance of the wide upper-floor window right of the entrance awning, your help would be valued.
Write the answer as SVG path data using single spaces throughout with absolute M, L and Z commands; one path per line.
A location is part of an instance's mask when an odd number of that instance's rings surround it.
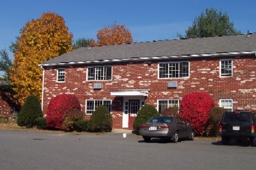
M 189 62 L 159 63 L 159 78 L 189 77 Z

